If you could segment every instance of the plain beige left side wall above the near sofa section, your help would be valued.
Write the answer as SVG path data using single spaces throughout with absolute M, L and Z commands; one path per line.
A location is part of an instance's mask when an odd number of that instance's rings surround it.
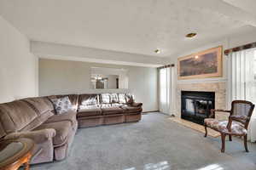
M 0 16 L 0 103 L 38 95 L 38 58 L 28 39 Z

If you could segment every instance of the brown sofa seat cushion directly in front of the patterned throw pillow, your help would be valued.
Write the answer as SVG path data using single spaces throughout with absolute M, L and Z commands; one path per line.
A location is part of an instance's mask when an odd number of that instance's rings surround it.
M 75 111 L 68 111 L 67 113 L 63 113 L 61 115 L 54 115 L 49 117 L 45 123 L 62 121 L 69 121 L 72 123 L 72 126 L 75 125 L 77 122 L 77 113 Z

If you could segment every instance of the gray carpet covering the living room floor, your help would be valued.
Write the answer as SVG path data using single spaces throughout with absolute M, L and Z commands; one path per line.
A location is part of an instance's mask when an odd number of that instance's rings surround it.
M 244 151 L 240 139 L 226 142 L 183 127 L 159 113 L 137 123 L 79 129 L 64 161 L 32 166 L 32 170 L 223 170 L 256 169 L 256 144 Z

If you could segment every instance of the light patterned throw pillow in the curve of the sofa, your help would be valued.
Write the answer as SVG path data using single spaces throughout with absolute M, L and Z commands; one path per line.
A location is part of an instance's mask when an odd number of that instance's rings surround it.
M 67 96 L 64 98 L 50 99 L 50 100 L 55 106 L 55 111 L 57 115 L 66 113 L 67 111 L 73 111 L 73 106 Z

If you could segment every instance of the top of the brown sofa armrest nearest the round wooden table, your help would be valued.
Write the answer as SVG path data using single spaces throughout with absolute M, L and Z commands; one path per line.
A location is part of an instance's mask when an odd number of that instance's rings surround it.
M 45 140 L 52 139 L 55 137 L 56 131 L 53 128 L 45 128 L 42 130 L 35 131 L 26 131 L 18 133 L 9 133 L 4 139 L 19 139 L 19 138 L 28 138 L 32 139 L 36 144 L 42 143 Z

